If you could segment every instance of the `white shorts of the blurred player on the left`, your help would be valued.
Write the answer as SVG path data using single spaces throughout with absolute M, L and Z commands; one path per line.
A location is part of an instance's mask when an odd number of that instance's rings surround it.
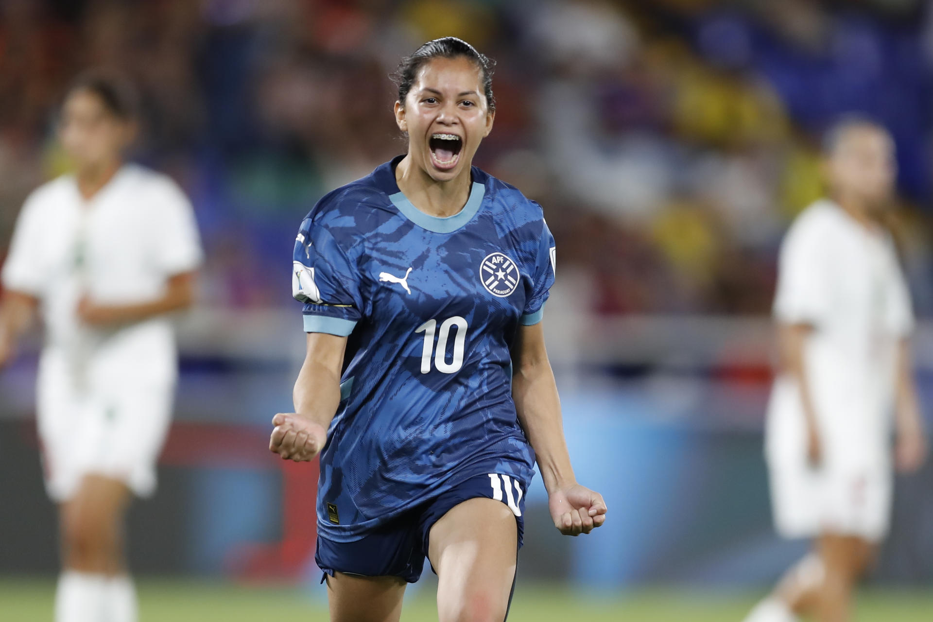
M 112 477 L 135 494 L 156 489 L 156 461 L 172 419 L 174 384 L 78 391 L 59 357 L 43 357 L 37 379 L 37 422 L 46 490 L 67 501 L 87 475 Z

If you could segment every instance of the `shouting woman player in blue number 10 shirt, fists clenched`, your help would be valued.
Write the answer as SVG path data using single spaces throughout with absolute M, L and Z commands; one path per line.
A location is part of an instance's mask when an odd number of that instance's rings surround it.
M 425 555 L 442 622 L 501 622 L 537 459 L 555 526 L 603 524 L 580 486 L 541 329 L 554 244 L 541 208 L 471 166 L 493 129 L 492 62 L 453 37 L 399 66 L 408 154 L 301 223 L 307 356 L 284 459 L 321 452 L 315 560 L 331 620 L 399 619 Z

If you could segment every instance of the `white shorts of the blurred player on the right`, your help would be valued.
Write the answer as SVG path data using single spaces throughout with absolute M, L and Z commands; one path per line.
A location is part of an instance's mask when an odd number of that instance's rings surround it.
M 786 538 L 821 533 L 880 542 L 891 515 L 893 473 L 884 465 L 812 469 L 802 460 L 769 460 L 774 526 Z

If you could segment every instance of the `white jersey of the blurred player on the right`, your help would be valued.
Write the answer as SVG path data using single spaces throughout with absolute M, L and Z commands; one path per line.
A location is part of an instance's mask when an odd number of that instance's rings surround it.
M 913 326 L 890 236 L 832 201 L 816 201 L 782 245 L 773 311 L 781 324 L 814 326 L 804 366 L 827 463 L 887 466 L 897 345 Z M 805 428 L 794 380 L 775 380 L 769 410 L 769 458 L 801 458 Z

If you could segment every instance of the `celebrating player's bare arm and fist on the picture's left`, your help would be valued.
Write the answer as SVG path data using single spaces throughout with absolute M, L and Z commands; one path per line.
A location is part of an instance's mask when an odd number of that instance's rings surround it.
M 327 426 L 341 401 L 341 368 L 347 338 L 326 333 L 307 334 L 304 364 L 292 394 L 295 412 L 272 418 L 269 449 L 283 460 L 313 460 L 327 442 Z

